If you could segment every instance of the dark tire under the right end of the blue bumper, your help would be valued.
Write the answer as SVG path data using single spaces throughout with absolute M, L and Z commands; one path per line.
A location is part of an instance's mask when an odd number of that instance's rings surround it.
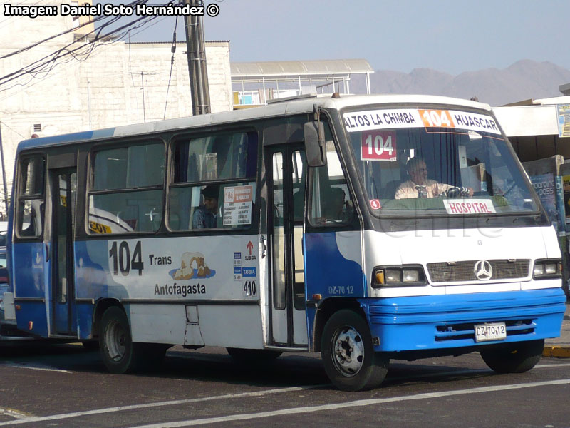
M 497 373 L 522 373 L 537 365 L 544 350 L 544 339 L 505 343 L 481 350 L 481 357 Z

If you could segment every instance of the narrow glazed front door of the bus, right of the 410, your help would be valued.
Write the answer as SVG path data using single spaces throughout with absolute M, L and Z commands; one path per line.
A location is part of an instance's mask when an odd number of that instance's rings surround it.
M 306 162 L 301 146 L 266 151 L 271 254 L 272 345 L 307 345 L 303 220 Z

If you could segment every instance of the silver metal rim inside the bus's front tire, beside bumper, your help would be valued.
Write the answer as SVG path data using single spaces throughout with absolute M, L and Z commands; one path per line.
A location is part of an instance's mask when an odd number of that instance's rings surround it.
M 364 343 L 353 327 L 343 327 L 336 332 L 333 342 L 333 362 L 345 376 L 354 376 L 364 362 Z

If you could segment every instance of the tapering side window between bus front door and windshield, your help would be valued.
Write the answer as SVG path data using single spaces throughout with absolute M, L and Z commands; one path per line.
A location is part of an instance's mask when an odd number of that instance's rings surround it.
M 309 223 L 314 226 L 346 225 L 353 218 L 353 203 L 332 141 L 326 143 L 327 163 L 314 168 L 311 180 Z

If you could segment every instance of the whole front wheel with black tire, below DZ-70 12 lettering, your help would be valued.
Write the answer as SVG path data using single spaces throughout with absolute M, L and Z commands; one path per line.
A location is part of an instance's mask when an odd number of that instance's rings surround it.
M 328 378 L 342 391 L 380 386 L 390 362 L 380 352 L 374 352 L 366 320 L 348 309 L 339 310 L 326 322 L 321 357 Z

